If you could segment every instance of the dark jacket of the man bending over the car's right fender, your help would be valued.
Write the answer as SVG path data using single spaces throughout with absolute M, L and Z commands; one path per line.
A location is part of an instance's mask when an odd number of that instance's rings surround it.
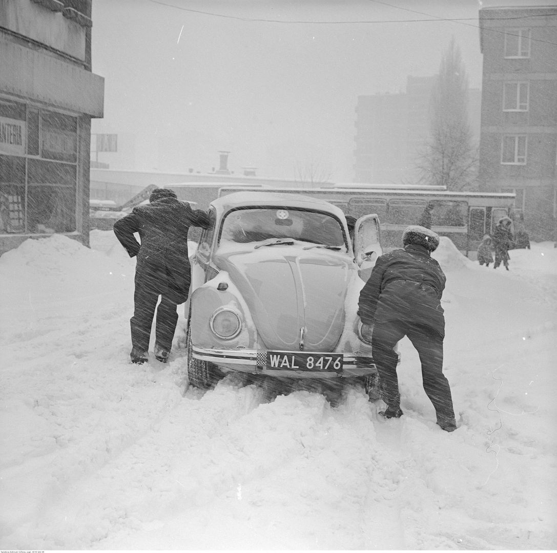
M 381 255 L 361 289 L 364 324 L 403 320 L 427 325 L 444 336 L 441 296 L 446 277 L 424 246 L 409 244 Z

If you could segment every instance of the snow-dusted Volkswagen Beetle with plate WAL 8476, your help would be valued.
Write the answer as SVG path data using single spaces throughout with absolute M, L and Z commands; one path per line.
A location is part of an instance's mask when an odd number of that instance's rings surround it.
M 358 219 L 352 239 L 340 208 L 297 194 L 236 192 L 209 213 L 190 257 L 190 384 L 241 371 L 370 389 L 377 368 L 356 310 L 382 254 L 377 215 Z

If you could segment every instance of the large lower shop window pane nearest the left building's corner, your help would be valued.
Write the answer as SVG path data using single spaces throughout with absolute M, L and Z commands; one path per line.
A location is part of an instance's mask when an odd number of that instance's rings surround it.
M 27 231 L 75 231 L 76 166 L 29 159 L 27 167 Z

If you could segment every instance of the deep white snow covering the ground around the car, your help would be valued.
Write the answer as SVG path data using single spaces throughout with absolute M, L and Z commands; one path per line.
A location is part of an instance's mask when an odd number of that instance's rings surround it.
M 203 394 L 178 347 L 130 364 L 135 261 L 110 231 L 91 244 L 0 258 L 1 549 L 557 546 L 553 243 L 511 251 L 510 271 L 447 239 L 434 254 L 453 433 L 407 339 L 391 421 L 361 389 L 336 408 L 232 377 Z

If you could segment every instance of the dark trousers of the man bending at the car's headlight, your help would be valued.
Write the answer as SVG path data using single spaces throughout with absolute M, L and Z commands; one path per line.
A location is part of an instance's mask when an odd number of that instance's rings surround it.
M 372 334 L 373 359 L 377 364 L 382 399 L 389 411 L 400 408 L 398 355 L 393 350 L 398 340 L 408 336 L 422 363 L 423 389 L 433 403 L 438 422 L 455 419 L 451 388 L 443 374 L 443 337 L 433 328 L 400 320 L 375 323 Z

